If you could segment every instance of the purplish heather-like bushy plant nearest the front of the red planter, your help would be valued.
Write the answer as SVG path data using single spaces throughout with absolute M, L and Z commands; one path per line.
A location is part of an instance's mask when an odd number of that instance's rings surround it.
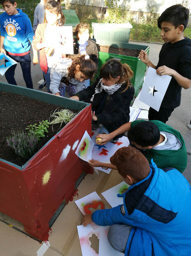
M 30 158 L 35 152 L 38 137 L 34 132 L 13 132 L 12 136 L 6 138 L 7 146 L 14 149 L 18 156 L 23 159 Z

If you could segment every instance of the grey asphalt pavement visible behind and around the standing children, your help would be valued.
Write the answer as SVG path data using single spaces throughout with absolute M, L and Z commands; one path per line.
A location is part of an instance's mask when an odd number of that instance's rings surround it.
M 153 62 L 154 65 L 157 64 L 158 54 L 161 50 L 162 44 L 134 42 L 134 41 L 130 41 L 129 43 L 135 43 L 139 45 L 150 45 L 149 59 L 151 60 L 151 62 Z M 31 51 L 31 56 L 32 55 L 33 53 Z M 37 84 L 37 82 L 43 78 L 40 65 L 33 66 L 33 64 L 31 64 L 31 75 L 33 79 L 33 87 L 34 89 L 38 89 L 39 84 Z M 25 82 L 22 77 L 22 71 L 21 71 L 20 65 L 17 65 L 16 67 L 15 79 L 19 86 L 25 87 Z M 7 82 L 5 79 L 5 76 L 1 76 L 0 81 Z M 46 90 L 47 89 L 44 89 L 43 91 L 46 91 Z M 172 112 L 172 115 L 169 118 L 169 121 L 167 122 L 167 124 L 169 124 L 173 128 L 177 129 L 179 132 L 181 132 L 185 140 L 187 153 L 188 153 L 188 165 L 183 174 L 191 184 L 191 129 L 187 127 L 187 124 L 191 120 L 190 110 L 191 110 L 191 89 L 188 89 L 188 90 L 182 89 L 181 105 Z

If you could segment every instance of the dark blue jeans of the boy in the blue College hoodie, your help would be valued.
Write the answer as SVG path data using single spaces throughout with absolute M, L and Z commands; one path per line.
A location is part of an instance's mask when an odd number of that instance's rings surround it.
M 31 62 L 30 53 L 24 56 L 13 56 L 13 55 L 9 55 L 8 53 L 7 55 L 11 57 L 13 60 L 15 60 L 16 62 L 20 63 L 21 69 L 23 72 L 23 78 L 26 83 L 26 87 L 33 89 L 33 81 L 30 74 L 30 62 Z M 5 63 L 6 62 L 8 62 L 8 60 L 5 60 Z M 7 79 L 7 82 L 9 84 L 17 85 L 14 79 L 15 69 L 16 69 L 16 64 L 9 67 L 9 69 L 7 69 L 7 71 L 5 72 L 5 78 Z

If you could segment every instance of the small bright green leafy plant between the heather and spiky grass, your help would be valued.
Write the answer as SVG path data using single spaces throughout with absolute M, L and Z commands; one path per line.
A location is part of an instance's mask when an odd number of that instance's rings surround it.
M 34 133 L 35 136 L 37 136 L 38 141 L 40 141 L 41 137 L 45 137 L 44 133 L 48 132 L 47 128 L 49 128 L 49 124 L 48 120 L 42 120 L 39 124 L 28 125 L 26 130 L 29 130 L 29 133 Z

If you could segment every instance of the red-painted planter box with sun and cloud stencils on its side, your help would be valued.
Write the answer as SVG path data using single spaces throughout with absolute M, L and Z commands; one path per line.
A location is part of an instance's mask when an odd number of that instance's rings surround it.
M 43 240 L 56 209 L 63 201 L 69 201 L 75 192 L 75 182 L 89 168 L 75 155 L 75 149 L 85 130 L 91 135 L 91 105 L 3 83 L 0 91 L 79 110 L 23 166 L 0 158 L 0 212 L 21 222 L 30 236 Z

